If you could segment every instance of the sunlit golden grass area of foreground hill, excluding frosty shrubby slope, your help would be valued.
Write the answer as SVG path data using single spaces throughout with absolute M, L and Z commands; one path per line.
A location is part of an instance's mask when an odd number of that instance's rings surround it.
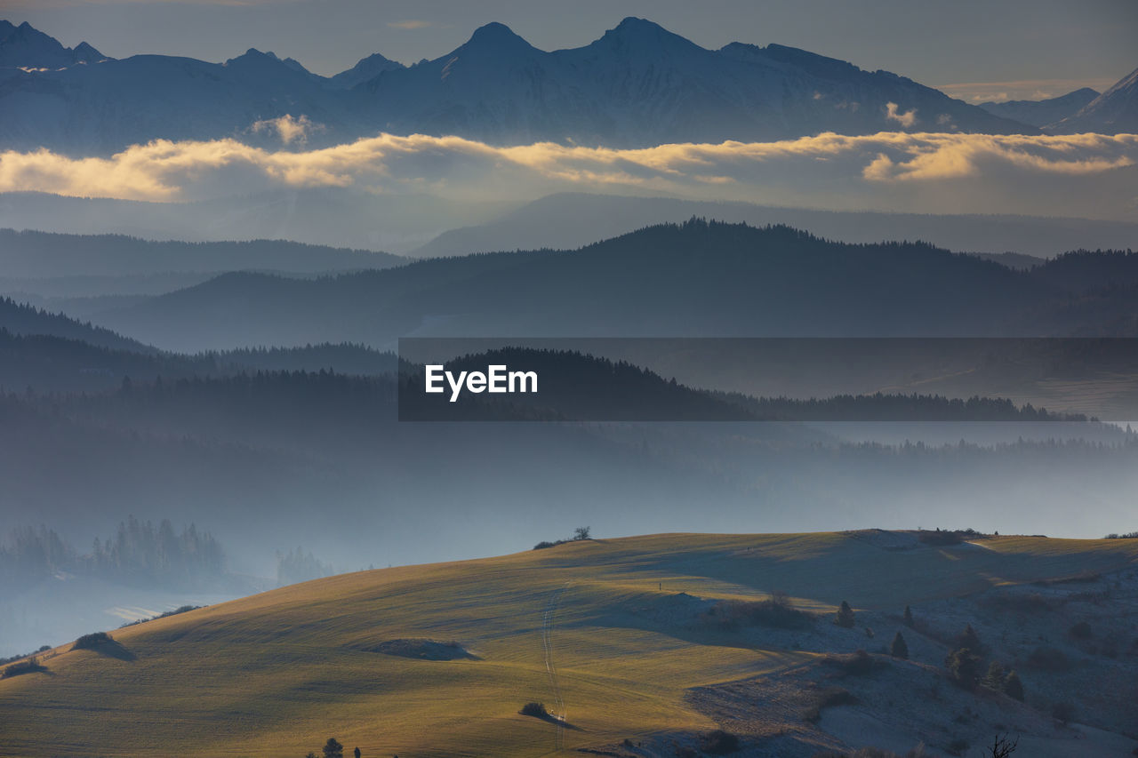
M 691 687 L 775 674 L 818 653 L 645 624 L 636 609 L 679 592 L 761 599 L 780 590 L 811 610 L 846 599 L 900 612 L 1138 560 L 1136 539 L 995 537 L 893 551 L 880 537 L 594 539 L 283 587 L 112 631 L 125 656 L 64 645 L 47 654 L 47 673 L 0 679 L 0 755 L 300 758 L 336 736 L 365 758 L 549 756 L 708 731 L 715 722 L 684 698 Z M 555 702 L 547 616 L 572 728 L 518 712 L 530 700 Z M 403 638 L 457 641 L 476 659 L 368 650 Z

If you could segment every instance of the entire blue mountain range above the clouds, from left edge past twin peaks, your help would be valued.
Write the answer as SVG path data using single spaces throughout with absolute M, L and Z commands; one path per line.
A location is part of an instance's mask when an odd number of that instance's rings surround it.
M 0 38 L 0 147 L 106 154 L 152 139 L 249 141 L 306 120 L 310 145 L 378 132 L 644 146 L 835 131 L 1038 133 L 904 76 L 780 44 L 708 50 L 626 18 L 582 48 L 546 52 L 497 23 L 403 66 L 369 56 L 332 77 L 250 49 L 223 64 L 64 48 L 26 24 Z M 259 124 L 259 125 L 257 125 Z

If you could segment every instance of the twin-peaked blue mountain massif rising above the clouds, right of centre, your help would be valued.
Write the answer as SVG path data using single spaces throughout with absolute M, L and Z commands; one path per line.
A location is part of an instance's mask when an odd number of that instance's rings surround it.
M 361 88 L 373 120 L 396 132 L 640 146 L 768 140 L 819 131 L 1032 131 L 887 72 L 772 44 L 706 50 L 649 20 L 626 18 L 595 42 L 544 52 L 487 24 L 453 52 Z

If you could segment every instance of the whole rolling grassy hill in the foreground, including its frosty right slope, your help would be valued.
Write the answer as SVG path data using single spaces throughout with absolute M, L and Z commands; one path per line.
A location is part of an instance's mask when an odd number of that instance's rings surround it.
M 1032 756 L 1106 755 L 1133 745 L 1119 734 L 1135 727 L 1124 706 L 1083 710 L 1097 726 L 1059 726 L 1037 702 L 1055 691 L 1049 673 L 1023 675 L 1024 705 L 957 690 L 938 667 L 960 613 L 1042 593 L 1047 623 L 1066 624 L 1083 611 L 1078 594 L 1059 604 L 1064 577 L 1079 577 L 1083 593 L 1124 594 L 1136 561 L 1133 539 L 930 546 L 868 530 L 653 535 L 343 575 L 117 631 L 110 646 L 46 653 L 47 672 L 0 679 L 0 755 L 304 756 L 335 735 L 369 757 L 670 756 L 717 726 L 742 736 L 739 755 L 811 756 L 859 740 L 924 740 L 925 755 L 946 755 L 948 731 L 979 745 L 996 725 L 1026 734 Z M 1025 583 L 1040 584 L 1028 595 Z M 724 601 L 772 591 L 815 620 L 724 620 Z M 842 600 L 857 610 L 855 628 L 830 623 Z M 874 673 L 849 674 L 848 653 L 876 652 L 906 604 L 918 617 L 905 629 L 912 660 L 873 656 Z M 997 633 L 1000 619 L 1023 627 L 998 610 L 973 623 L 993 656 L 1009 657 L 1015 641 Z M 861 628 L 871 624 L 877 641 Z M 1088 661 L 1079 670 L 1135 667 L 1132 656 Z M 872 683 L 890 687 L 889 706 L 871 700 L 883 697 Z M 820 700 L 835 684 L 850 705 Z M 1102 690 L 1083 698 L 1112 687 Z M 563 724 L 520 715 L 534 700 Z M 890 725 L 891 710 L 924 701 L 908 726 Z M 962 708 L 972 716 L 954 723 Z M 852 730 L 853 716 L 881 728 Z

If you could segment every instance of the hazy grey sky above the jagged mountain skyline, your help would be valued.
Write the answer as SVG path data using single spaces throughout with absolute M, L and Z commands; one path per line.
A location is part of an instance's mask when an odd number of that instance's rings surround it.
M 481 24 L 579 47 L 625 16 L 694 42 L 778 42 L 885 68 L 965 99 L 1098 89 L 1138 67 L 1135 0 L 0 0 L 73 47 L 221 61 L 249 47 L 333 74 L 372 52 L 436 58 Z M 982 86 L 981 86 L 982 85 Z

